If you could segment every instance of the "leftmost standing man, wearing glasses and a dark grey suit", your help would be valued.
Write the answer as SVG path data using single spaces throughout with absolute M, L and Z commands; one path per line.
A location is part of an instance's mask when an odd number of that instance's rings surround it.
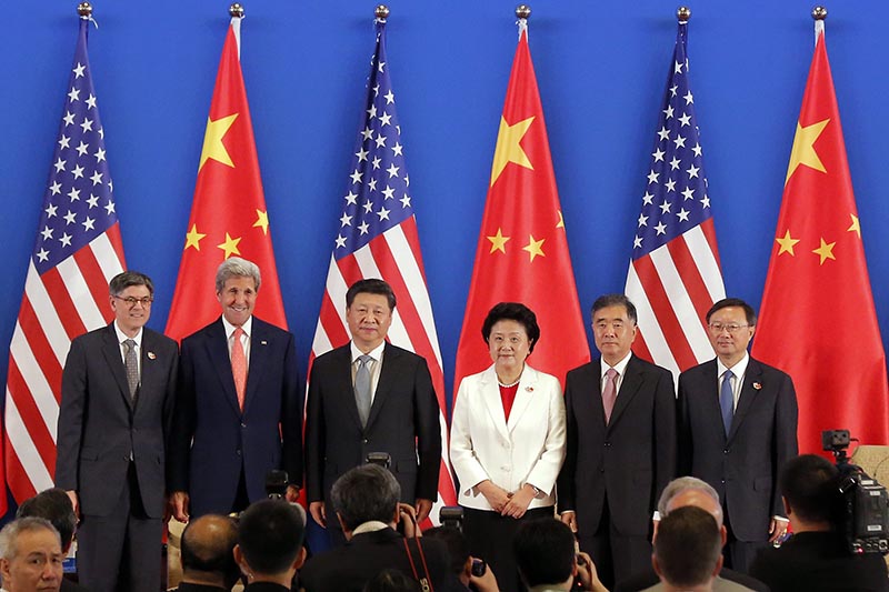
M 93 592 L 157 592 L 178 348 L 144 328 L 154 299 L 148 275 L 124 271 L 109 289 L 114 321 L 74 339 L 64 362 L 56 484 L 81 519 L 80 582 Z

